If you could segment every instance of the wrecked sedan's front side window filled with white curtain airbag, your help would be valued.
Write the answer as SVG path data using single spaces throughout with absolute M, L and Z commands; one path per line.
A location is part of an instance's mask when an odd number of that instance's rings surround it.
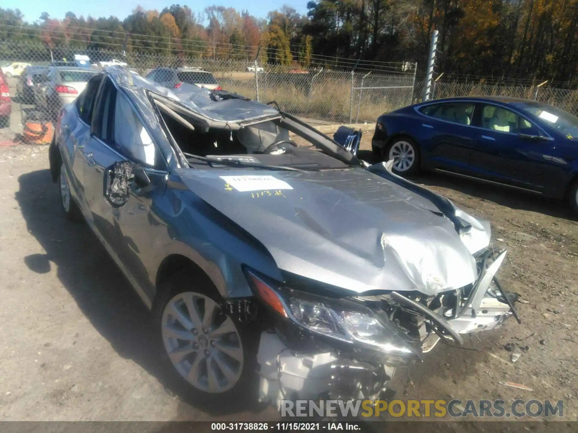
M 126 96 L 117 92 L 114 109 L 114 143 L 127 158 L 154 167 L 156 147 Z

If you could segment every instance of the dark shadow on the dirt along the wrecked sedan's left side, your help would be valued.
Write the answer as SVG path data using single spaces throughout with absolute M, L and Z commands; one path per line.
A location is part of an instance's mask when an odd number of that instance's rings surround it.
M 150 313 L 110 258 L 86 223 L 68 221 L 60 204 L 60 191 L 51 183 L 50 171 L 39 170 L 18 178 L 16 200 L 28 231 L 46 254 L 24 259 L 32 271 L 45 274 L 53 262 L 58 278 L 72 295 L 92 326 L 125 359 L 131 359 L 155 376 L 169 394 L 183 404 L 177 411 L 181 419 L 194 419 L 203 410 L 208 416 L 226 416 L 260 410 L 255 398 L 241 398 L 227 405 L 209 405 L 192 400 L 179 391 L 157 359 Z M 258 382 L 254 381 L 255 384 Z

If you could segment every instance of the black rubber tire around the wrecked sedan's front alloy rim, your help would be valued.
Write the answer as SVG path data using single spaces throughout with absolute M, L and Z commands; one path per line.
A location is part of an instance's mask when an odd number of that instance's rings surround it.
M 228 318 L 228 320 L 232 320 L 232 323 L 234 323 L 235 325 L 240 340 L 240 345 L 242 348 L 243 364 L 242 366 L 239 366 L 239 368 L 236 370 L 236 374 L 240 375 L 238 376 L 235 385 L 232 386 L 230 389 L 218 393 L 208 392 L 206 390 L 199 389 L 198 387 L 195 387 L 192 383 L 188 382 L 188 380 L 184 378 L 183 374 L 186 374 L 186 372 L 179 372 L 177 370 L 176 365 L 173 364 L 173 362 L 169 357 L 168 349 L 165 347 L 165 339 L 163 335 L 163 327 L 169 317 L 165 316 L 165 309 L 169 309 L 170 308 L 169 303 L 172 304 L 173 300 L 175 300 L 175 298 L 178 298 L 183 293 L 195 293 L 201 296 L 208 297 L 218 305 L 221 305 L 221 303 L 223 302 L 223 298 L 220 296 L 220 294 L 217 292 L 217 289 L 214 287 L 212 282 L 209 281 L 208 278 L 199 279 L 198 274 L 192 273 L 190 270 L 179 270 L 176 273 L 169 275 L 169 277 L 165 278 L 164 281 L 160 283 L 158 290 L 159 292 L 153 305 L 155 346 L 158 346 L 158 353 L 160 354 L 161 363 L 163 364 L 164 371 L 167 372 L 167 379 L 169 380 L 170 385 L 175 388 L 177 393 L 185 397 L 187 400 L 195 401 L 199 404 L 203 403 L 212 404 L 218 401 L 220 405 L 221 404 L 228 405 L 234 402 L 235 400 L 238 400 L 238 397 L 242 397 L 243 400 L 248 400 L 249 398 L 251 398 L 251 396 L 247 395 L 248 390 L 254 390 L 255 389 L 254 385 L 255 383 L 257 383 L 256 381 L 258 380 L 257 375 L 255 374 L 255 368 L 257 365 L 257 349 L 259 342 L 258 337 L 259 327 L 257 326 L 257 324 L 240 323 L 237 320 L 230 318 L 228 315 L 225 314 L 224 311 L 222 310 L 217 311 L 215 320 L 217 320 L 218 317 Z M 203 304 L 202 307 L 203 318 L 205 315 L 204 305 L 205 304 Z M 190 318 L 187 309 L 181 311 L 181 313 L 183 313 L 186 317 Z M 193 320 L 191 320 L 191 323 L 193 323 Z M 183 327 L 183 330 L 185 329 L 186 328 Z M 195 329 L 196 328 L 194 328 L 193 330 Z M 209 341 L 206 342 L 207 339 L 206 338 L 204 342 L 201 342 L 201 338 L 203 338 L 205 335 L 206 337 L 208 337 Z M 205 333 L 205 329 L 202 329 L 202 333 L 198 333 L 198 337 L 195 338 L 197 338 L 198 342 L 195 341 L 191 342 L 190 344 L 191 345 L 195 343 L 197 344 L 198 349 L 196 350 L 196 354 L 191 353 L 190 355 L 187 355 L 190 356 L 189 359 L 184 359 L 180 361 L 179 368 L 181 368 L 181 371 L 183 369 L 190 368 L 190 366 L 194 364 L 195 361 L 197 361 L 199 353 L 202 353 L 203 350 L 205 352 L 205 360 L 201 359 L 201 361 L 199 361 L 201 363 L 199 371 L 206 372 L 207 369 L 209 368 L 209 362 L 212 363 L 211 365 L 213 366 L 216 364 L 215 361 L 210 360 L 210 358 L 213 357 L 213 353 L 211 353 L 210 356 L 208 356 L 207 354 L 208 349 L 211 349 L 211 345 L 213 343 L 213 341 L 211 341 L 210 332 Z M 182 340 L 181 342 L 184 343 L 185 341 L 186 340 Z M 202 344 L 205 345 L 204 349 Z M 218 345 L 216 347 L 218 348 Z M 179 347 L 179 349 L 181 348 Z M 215 349 L 215 346 L 213 346 L 213 349 Z M 219 371 L 222 372 L 221 369 L 219 369 Z M 197 378 L 198 377 L 199 376 L 197 375 Z M 223 382 L 223 378 L 220 378 L 220 380 L 221 382 Z M 229 382 L 227 381 L 227 383 Z M 254 397 L 255 398 L 253 398 L 253 401 L 255 401 L 257 398 L 256 393 Z

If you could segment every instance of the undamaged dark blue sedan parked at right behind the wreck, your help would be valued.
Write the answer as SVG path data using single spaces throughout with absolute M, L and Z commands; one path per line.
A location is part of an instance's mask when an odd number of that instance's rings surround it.
M 568 199 L 578 212 L 578 117 L 503 96 L 432 100 L 377 119 L 373 155 L 420 170 Z

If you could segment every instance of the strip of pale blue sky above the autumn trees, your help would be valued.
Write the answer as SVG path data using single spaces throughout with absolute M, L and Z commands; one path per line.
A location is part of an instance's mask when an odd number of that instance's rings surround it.
M 20 9 L 24 14 L 25 21 L 38 20 L 40 13 L 48 12 L 50 17 L 61 19 L 64 14 L 71 10 L 77 17 L 83 15 L 85 18 L 91 15 L 94 18 L 109 17 L 114 15 L 121 20 L 129 15 L 132 9 L 137 5 L 144 9 L 158 9 L 161 12 L 165 6 L 171 4 L 186 4 L 193 12 L 202 12 L 207 6 L 219 5 L 227 8 L 235 8 L 249 10 L 251 15 L 255 17 L 266 17 L 269 10 L 279 9 L 284 4 L 287 4 L 297 10 L 297 12 L 307 13 L 307 0 L 194 0 L 184 1 L 155 1 L 155 0 L 2 0 L 2 8 L 5 9 Z

